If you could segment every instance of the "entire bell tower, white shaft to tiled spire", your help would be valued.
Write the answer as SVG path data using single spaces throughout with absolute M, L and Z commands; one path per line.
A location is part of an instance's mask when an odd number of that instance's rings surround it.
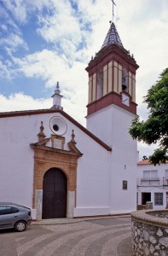
M 136 116 L 136 69 L 113 22 L 101 49 L 86 67 L 89 74 L 87 129 L 112 148 L 107 157 L 110 213 L 136 210 L 136 141 L 130 137 Z M 97 161 L 99 159 L 97 158 Z

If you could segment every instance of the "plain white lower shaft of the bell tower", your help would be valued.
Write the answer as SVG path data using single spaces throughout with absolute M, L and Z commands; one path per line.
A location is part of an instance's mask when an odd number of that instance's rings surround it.
M 136 210 L 136 141 L 128 133 L 134 114 L 111 105 L 87 117 L 87 128 L 113 148 L 110 212 Z M 128 189 L 123 189 L 127 181 Z

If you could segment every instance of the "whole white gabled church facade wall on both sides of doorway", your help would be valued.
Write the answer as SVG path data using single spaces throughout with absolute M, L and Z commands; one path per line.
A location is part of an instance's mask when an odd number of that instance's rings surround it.
M 49 119 L 61 113 L 15 116 L 0 119 L 0 140 L 2 147 L 0 201 L 14 201 L 32 207 L 34 159 L 31 143 L 38 142 L 38 132 L 43 121 L 44 134 L 50 137 Z M 105 148 L 73 125 L 68 119 L 67 143 L 74 130 L 78 149 L 83 156 L 78 159 L 77 199 L 75 216 L 109 213 L 109 155 Z M 51 146 L 48 143 L 48 146 Z M 56 166 L 55 166 L 56 167 Z M 36 209 L 33 212 L 35 218 Z

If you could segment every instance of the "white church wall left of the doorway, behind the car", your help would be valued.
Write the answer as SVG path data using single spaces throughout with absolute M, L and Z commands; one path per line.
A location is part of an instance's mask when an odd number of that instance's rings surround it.
M 0 119 L 0 201 L 32 207 L 33 152 L 29 144 L 35 139 L 35 127 L 30 116 Z

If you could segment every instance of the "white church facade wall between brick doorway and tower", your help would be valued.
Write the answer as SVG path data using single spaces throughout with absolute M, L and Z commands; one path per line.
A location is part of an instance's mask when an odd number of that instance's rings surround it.
M 68 119 L 65 120 L 68 127 L 65 135 L 67 142 L 71 140 L 74 130 L 76 146 L 83 154 L 78 159 L 74 216 L 109 214 L 109 157 L 112 153 L 102 148 Z

